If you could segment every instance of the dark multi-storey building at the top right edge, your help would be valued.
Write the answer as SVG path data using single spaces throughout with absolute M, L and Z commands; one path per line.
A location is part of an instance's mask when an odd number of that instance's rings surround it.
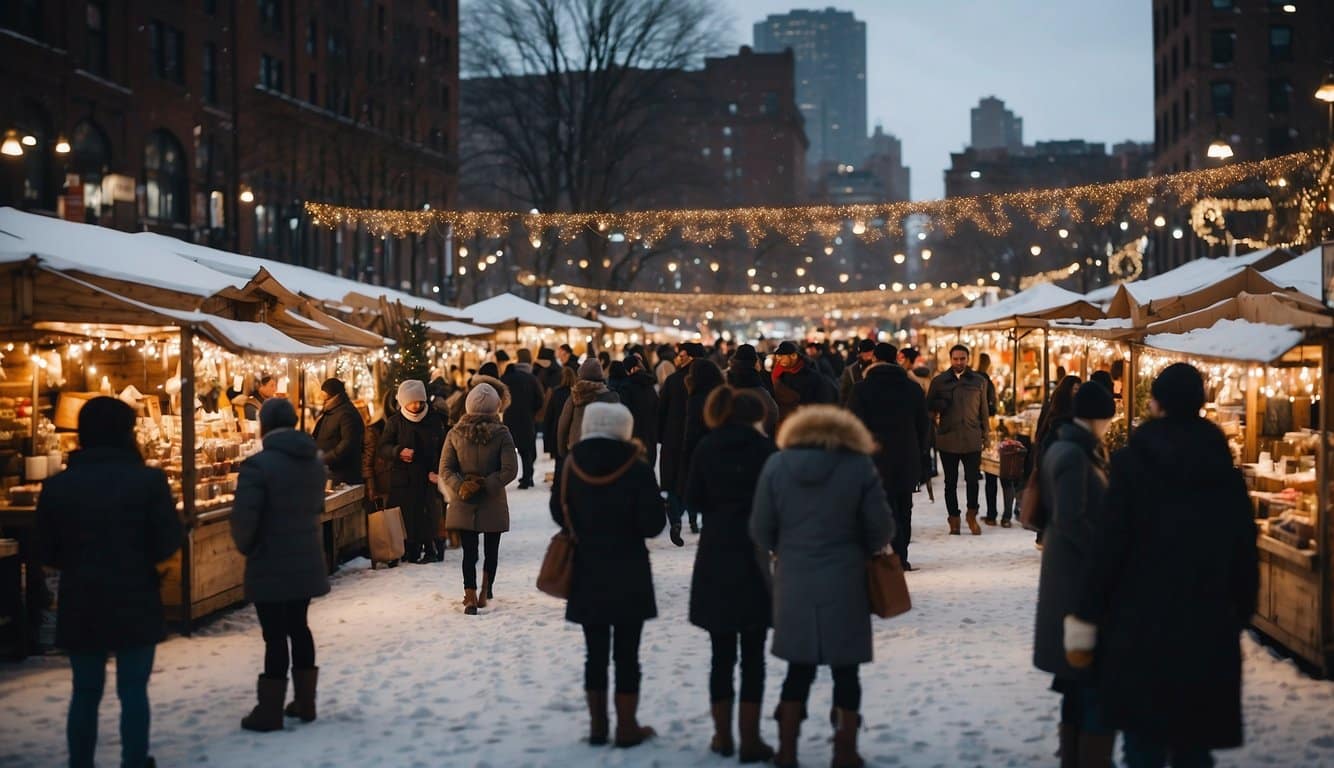
M 1155 173 L 1261 160 L 1334 139 L 1327 105 L 1314 99 L 1334 68 L 1334 4 L 1153 0 L 1151 11 Z M 1209 156 L 1219 140 L 1230 157 Z M 1151 271 L 1210 255 L 1189 212 L 1170 213 L 1154 235 Z M 1178 229 L 1182 237 L 1174 237 Z

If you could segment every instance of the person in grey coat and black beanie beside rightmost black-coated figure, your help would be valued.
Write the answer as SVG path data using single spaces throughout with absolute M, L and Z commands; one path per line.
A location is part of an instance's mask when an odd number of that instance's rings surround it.
M 1055 675 L 1051 688 L 1063 695 L 1062 765 L 1111 765 L 1117 737 L 1103 717 L 1093 667 L 1071 664 L 1065 644 L 1066 625 L 1077 625 L 1067 616 L 1098 615 L 1091 603 L 1091 579 L 1099 509 L 1107 493 L 1107 451 L 1102 436 L 1115 415 L 1111 392 L 1094 383 L 1081 387 L 1074 420 L 1058 428 L 1038 468 L 1049 519 L 1038 579 L 1033 664 Z

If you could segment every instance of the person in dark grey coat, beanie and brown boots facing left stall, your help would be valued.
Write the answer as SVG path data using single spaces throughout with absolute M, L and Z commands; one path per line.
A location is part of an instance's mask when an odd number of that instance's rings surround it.
M 283 729 L 288 661 L 296 700 L 287 713 L 315 720 L 319 667 L 305 613 L 312 597 L 329 592 L 320 535 L 325 472 L 315 440 L 295 427 L 291 400 L 264 401 L 264 449 L 241 463 L 236 479 L 232 541 L 245 556 L 245 599 L 255 604 L 264 633 L 259 704 L 241 720 L 247 731 Z

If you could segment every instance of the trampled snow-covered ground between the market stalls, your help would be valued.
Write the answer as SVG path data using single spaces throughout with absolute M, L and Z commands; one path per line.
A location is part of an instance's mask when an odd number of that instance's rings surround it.
M 543 467 L 550 471 L 550 464 Z M 540 477 L 540 475 L 539 475 Z M 939 489 L 938 489 L 939 493 Z M 263 644 L 252 608 L 157 649 L 151 697 L 160 765 L 722 765 L 708 753 L 708 639 L 686 621 L 696 539 L 651 543 L 662 616 L 644 628 L 642 721 L 659 731 L 618 751 L 587 731 L 583 636 L 563 603 L 534 587 L 552 524 L 547 492 L 514 491 L 514 531 L 500 548 L 496 600 L 466 616 L 459 552 L 443 564 L 343 567 L 311 609 L 320 664 L 320 719 L 256 735 Z M 1030 663 L 1038 552 L 1019 528 L 946 536 L 943 507 L 918 496 L 908 575 L 914 609 L 876 620 L 864 667 L 862 752 L 872 765 L 1055 764 L 1058 697 Z M 1334 765 L 1334 683 L 1302 675 L 1250 637 L 1249 744 L 1222 765 Z M 770 659 L 764 707 L 784 664 Z M 119 760 L 119 704 L 101 707 L 103 764 Z M 69 671 L 63 657 L 0 664 L 0 765 L 63 764 Z M 803 764 L 828 764 L 827 672 L 812 693 Z M 292 723 L 292 721 L 289 721 Z M 776 739 L 775 725 L 764 733 Z M 731 761 L 727 761 L 731 763 Z

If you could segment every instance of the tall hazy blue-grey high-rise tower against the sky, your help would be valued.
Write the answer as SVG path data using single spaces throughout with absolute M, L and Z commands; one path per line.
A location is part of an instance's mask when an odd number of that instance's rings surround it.
M 796 104 L 806 117 L 807 168 L 866 157 L 866 23 L 850 11 L 792 11 L 755 23 L 755 51 L 796 55 Z M 814 176 L 812 176 L 814 177 Z

